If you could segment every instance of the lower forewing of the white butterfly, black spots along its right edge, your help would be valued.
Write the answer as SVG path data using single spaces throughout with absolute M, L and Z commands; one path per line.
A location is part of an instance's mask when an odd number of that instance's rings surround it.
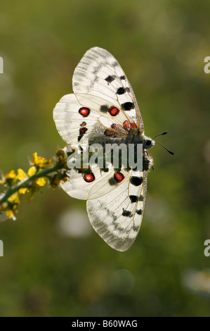
M 91 187 L 88 196 L 94 196 L 98 185 L 100 182 Z M 146 188 L 147 173 L 130 170 L 110 192 L 95 199 L 88 198 L 89 220 L 98 235 L 113 249 L 126 251 L 136 239 L 143 220 Z

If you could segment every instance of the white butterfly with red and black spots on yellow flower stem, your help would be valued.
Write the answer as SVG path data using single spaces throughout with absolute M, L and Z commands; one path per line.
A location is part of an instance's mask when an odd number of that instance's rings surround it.
M 53 110 L 60 136 L 67 144 L 143 144 L 147 167 L 140 170 L 109 169 L 97 165 L 84 174 L 68 171 L 61 187 L 76 199 L 85 199 L 94 230 L 117 251 L 131 247 L 140 230 L 145 210 L 147 173 L 152 158 L 147 149 L 155 141 L 146 137 L 136 97 L 121 66 L 105 49 L 86 51 L 74 70 L 74 94 L 63 96 Z

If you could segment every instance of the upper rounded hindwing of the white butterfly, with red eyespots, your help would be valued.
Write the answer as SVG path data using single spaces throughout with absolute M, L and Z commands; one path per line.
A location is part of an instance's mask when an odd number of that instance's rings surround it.
M 117 143 L 126 139 L 129 130 L 123 127 L 123 123 L 131 120 L 123 111 L 117 108 L 116 115 L 114 112 L 111 115 L 113 104 L 99 96 L 81 94 L 80 100 L 81 104 L 74 94 L 67 94 L 53 110 L 55 125 L 65 142 L 81 144 L 84 137 L 88 137 L 90 144 Z

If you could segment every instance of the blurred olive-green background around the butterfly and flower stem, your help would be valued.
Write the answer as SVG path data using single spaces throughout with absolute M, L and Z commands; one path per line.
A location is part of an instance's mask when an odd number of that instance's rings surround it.
M 122 65 L 150 137 L 143 225 L 129 251 L 91 229 L 86 203 L 44 188 L 0 223 L 0 316 L 210 316 L 209 0 L 3 1 L 0 169 L 65 146 L 52 111 L 87 49 Z M 202 281 L 201 281 L 202 280 Z

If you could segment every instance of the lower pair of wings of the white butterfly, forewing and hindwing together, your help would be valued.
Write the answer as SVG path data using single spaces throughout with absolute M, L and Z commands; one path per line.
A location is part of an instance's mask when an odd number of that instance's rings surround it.
M 98 235 L 117 251 L 126 251 L 133 244 L 143 220 L 147 173 L 121 170 L 124 179 L 117 182 L 114 170 L 104 173 L 97 166 L 92 170 L 93 182 L 84 174 L 70 170 L 61 187 L 76 199 L 87 199 L 89 220 Z

